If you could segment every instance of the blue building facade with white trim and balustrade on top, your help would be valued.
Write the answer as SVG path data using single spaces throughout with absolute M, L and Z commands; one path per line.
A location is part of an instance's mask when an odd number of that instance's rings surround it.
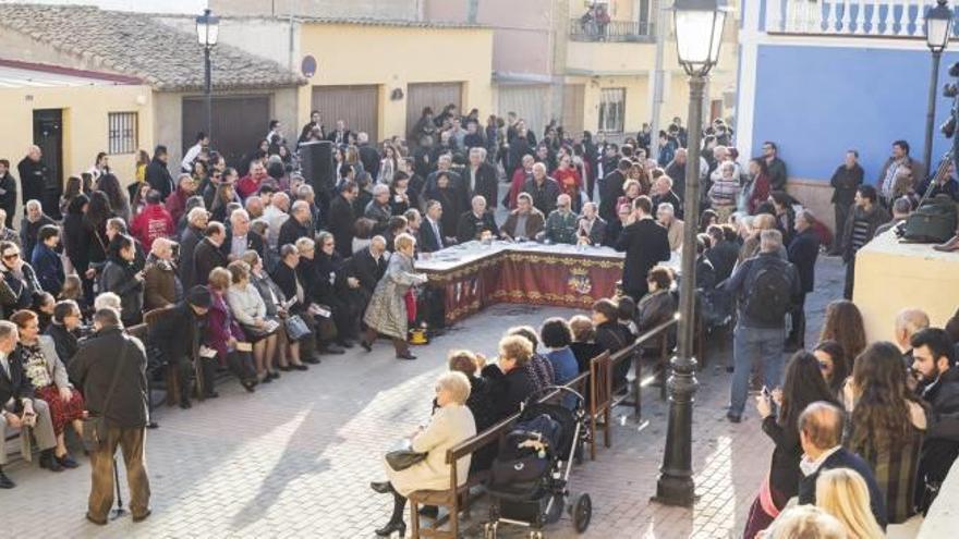
M 932 54 L 924 15 L 934 0 L 820 2 L 743 0 L 737 147 L 758 156 L 779 146 L 790 192 L 831 223 L 829 177 L 857 149 L 875 182 L 894 140 L 922 159 Z M 954 13 L 959 11 L 954 8 Z M 959 25 L 954 24 L 954 39 Z M 955 51 L 950 50 L 955 49 Z M 937 87 L 950 79 L 959 42 L 943 54 Z M 933 160 L 950 145 L 938 133 L 951 100 L 937 89 Z

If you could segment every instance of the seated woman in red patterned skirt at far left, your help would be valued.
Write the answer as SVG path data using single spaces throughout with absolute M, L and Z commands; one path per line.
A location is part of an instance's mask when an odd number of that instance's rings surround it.
M 53 455 L 64 468 L 77 466 L 66 451 L 63 442 L 63 430 L 68 424 L 73 425 L 77 436 L 83 436 L 84 408 L 83 396 L 73 389 L 66 379 L 66 368 L 57 356 L 53 339 L 39 334 L 39 320 L 32 310 L 19 310 L 10 317 L 10 321 L 20 330 L 20 354 L 23 369 L 34 384 L 36 396 L 50 406 L 53 420 L 53 432 L 57 434 L 57 448 Z

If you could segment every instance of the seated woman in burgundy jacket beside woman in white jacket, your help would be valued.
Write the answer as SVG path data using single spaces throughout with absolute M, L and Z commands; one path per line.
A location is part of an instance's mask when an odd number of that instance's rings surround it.
M 210 307 L 207 313 L 204 344 L 215 350 L 215 357 L 220 365 L 229 365 L 243 388 L 253 393 L 257 384 L 256 370 L 253 368 L 250 354 L 238 350 L 238 345 L 246 341 L 246 335 L 243 334 L 243 330 L 233 318 L 230 307 L 227 306 L 227 292 L 232 280 L 233 275 L 226 268 L 214 268 L 210 271 L 207 285 L 210 291 Z M 204 375 L 206 378 L 204 388 L 208 388 L 207 391 L 214 391 L 213 377 L 206 376 L 207 369 L 204 369 Z

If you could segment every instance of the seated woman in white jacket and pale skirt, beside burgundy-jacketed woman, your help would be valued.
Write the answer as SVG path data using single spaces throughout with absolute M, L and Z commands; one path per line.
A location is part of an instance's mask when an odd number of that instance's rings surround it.
M 272 381 L 280 375 L 272 369 L 274 355 L 277 352 L 277 322 L 266 317 L 266 304 L 256 286 L 250 283 L 250 265 L 243 260 L 233 260 L 227 266 L 230 270 L 232 284 L 227 292 L 230 311 L 243 328 L 243 333 L 253 343 L 253 362 L 256 365 L 256 377 L 263 382 Z

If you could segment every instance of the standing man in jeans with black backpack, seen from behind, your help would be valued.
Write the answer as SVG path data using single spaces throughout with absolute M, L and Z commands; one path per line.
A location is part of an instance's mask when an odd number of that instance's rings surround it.
M 732 336 L 732 390 L 726 414 L 730 422 L 742 420 L 753 366 L 762 369 L 770 391 L 781 383 L 786 314 L 801 290 L 796 267 L 779 258 L 781 248 L 782 233 L 764 230 L 760 254 L 739 265 L 726 281 L 726 292 L 739 304 Z

